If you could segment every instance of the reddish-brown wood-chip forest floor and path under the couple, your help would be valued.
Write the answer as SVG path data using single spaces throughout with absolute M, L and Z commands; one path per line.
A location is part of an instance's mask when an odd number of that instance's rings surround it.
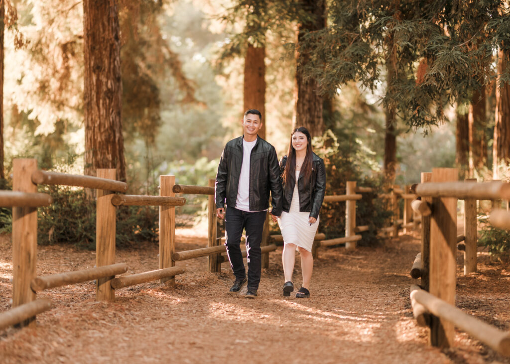
M 207 245 L 203 229 L 179 228 L 177 250 Z M 207 272 L 207 258 L 177 262 L 186 273 L 174 288 L 157 282 L 116 291 L 116 301 L 95 302 L 93 282 L 44 291 L 54 308 L 37 327 L 0 331 L 2 363 L 254 362 L 254 363 L 510 363 L 510 358 L 456 331 L 455 346 L 427 345 L 428 329 L 413 319 L 409 271 L 418 235 L 377 248 L 319 249 L 311 297 L 283 297 L 282 247 L 270 253 L 259 297 L 228 294 L 233 274 Z M 11 306 L 12 248 L 0 237 L 0 311 Z M 158 268 L 158 245 L 117 249 L 126 274 Z M 503 330 L 510 327 L 510 268 L 478 253 L 478 272 L 462 274 L 457 258 L 456 304 Z M 90 268 L 95 252 L 69 245 L 39 246 L 37 273 Z M 296 257 L 294 282 L 300 287 Z

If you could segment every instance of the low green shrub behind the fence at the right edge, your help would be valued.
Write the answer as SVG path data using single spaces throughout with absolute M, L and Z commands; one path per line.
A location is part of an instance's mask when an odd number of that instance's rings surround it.
M 510 231 L 489 224 L 487 215 L 479 215 L 478 222 L 484 226 L 478 233 L 478 245 L 487 247 L 496 259 L 510 259 Z

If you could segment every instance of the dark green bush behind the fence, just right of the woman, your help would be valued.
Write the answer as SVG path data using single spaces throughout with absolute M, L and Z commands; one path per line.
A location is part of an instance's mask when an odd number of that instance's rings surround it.
M 380 190 L 382 181 L 373 177 L 364 177 L 362 166 L 367 163 L 361 154 L 349 148 L 347 135 L 335 136 L 327 131 L 324 136 L 314 138 L 315 152 L 324 159 L 326 165 L 326 195 L 345 194 L 346 181 L 357 181 L 360 187 L 372 187 Z M 356 225 L 369 225 L 369 231 L 363 232 L 361 244 L 375 245 L 380 240 L 377 230 L 388 224 L 391 212 L 385 202 L 375 198 L 375 193 L 363 193 L 356 201 Z M 345 236 L 345 202 L 325 202 L 321 210 L 321 232 L 328 238 Z

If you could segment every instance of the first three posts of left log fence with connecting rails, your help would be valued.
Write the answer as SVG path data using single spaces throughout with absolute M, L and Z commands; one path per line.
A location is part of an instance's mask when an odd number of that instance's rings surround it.
M 96 189 L 96 267 L 36 276 L 37 207 L 48 206 L 52 198 L 37 193 L 37 185 L 66 185 Z M 174 267 L 175 206 L 186 199 L 175 197 L 174 176 L 160 176 L 160 196 L 118 195 L 127 185 L 115 180 L 115 169 L 98 169 L 97 177 L 47 172 L 37 169 L 37 161 L 13 161 L 13 191 L 0 191 L 0 206 L 12 207 L 12 309 L 0 314 L 0 330 L 10 325 L 34 326 L 35 316 L 52 306 L 50 299 L 36 299 L 37 292 L 62 285 L 96 280 L 96 300 L 113 300 L 115 289 L 156 279 L 173 284 L 183 268 Z M 115 264 L 116 206 L 160 206 L 159 269 L 122 276 L 125 263 Z

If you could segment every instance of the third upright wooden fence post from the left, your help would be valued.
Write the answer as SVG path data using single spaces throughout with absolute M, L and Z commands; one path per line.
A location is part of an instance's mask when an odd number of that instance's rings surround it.
M 160 176 L 160 196 L 174 197 L 175 176 Z M 175 206 L 160 206 L 160 269 L 175 266 Z M 175 285 L 175 277 L 161 278 L 161 283 Z

